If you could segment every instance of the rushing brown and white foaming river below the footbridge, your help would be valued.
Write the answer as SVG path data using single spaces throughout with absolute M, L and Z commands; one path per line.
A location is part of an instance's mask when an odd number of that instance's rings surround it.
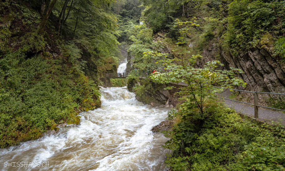
M 161 146 L 167 139 L 151 129 L 165 119 L 168 109 L 143 105 L 126 88 L 102 88 L 101 93 L 101 108 L 80 113 L 80 125 L 62 126 L 56 134 L 0 149 L 0 169 L 165 170 L 166 149 Z M 21 161 L 45 166 L 7 166 Z

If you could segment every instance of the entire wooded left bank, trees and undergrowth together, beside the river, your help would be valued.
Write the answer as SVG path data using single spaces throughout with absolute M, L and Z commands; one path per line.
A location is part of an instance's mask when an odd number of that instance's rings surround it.
M 113 2 L 0 2 L 1 148 L 101 106 L 97 72 L 118 65 Z

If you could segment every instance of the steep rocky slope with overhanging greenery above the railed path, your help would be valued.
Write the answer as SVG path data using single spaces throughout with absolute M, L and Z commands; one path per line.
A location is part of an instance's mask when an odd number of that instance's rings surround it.
M 204 56 L 202 63 L 221 60 L 244 71 L 247 90 L 285 92 L 283 2 L 232 1 L 206 3 L 190 44 Z M 219 11 L 220 10 L 220 11 Z M 209 15 L 210 14 L 210 15 Z M 198 36 L 196 35 L 198 34 Z M 199 49 L 197 51 L 197 49 Z

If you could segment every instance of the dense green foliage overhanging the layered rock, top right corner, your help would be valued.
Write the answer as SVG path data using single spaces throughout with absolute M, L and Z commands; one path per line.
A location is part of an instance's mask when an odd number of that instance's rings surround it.
M 256 47 L 261 43 L 262 36 L 268 33 L 276 36 L 275 41 L 278 35 L 285 36 L 281 29 L 285 23 L 282 18 L 284 4 L 284 1 L 232 1 L 228 8 L 229 30 L 225 34 L 225 41 L 231 45 L 233 53 L 242 53 Z M 270 45 L 272 44 L 267 40 L 267 46 Z M 277 51 L 280 48 L 278 46 Z

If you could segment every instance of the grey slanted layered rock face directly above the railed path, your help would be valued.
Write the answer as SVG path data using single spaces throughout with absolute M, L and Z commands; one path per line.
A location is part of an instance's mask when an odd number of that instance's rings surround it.
M 251 49 L 237 58 L 224 53 L 221 55 L 229 66 L 245 72 L 241 77 L 251 91 L 285 92 L 284 68 L 282 70 L 265 49 Z

